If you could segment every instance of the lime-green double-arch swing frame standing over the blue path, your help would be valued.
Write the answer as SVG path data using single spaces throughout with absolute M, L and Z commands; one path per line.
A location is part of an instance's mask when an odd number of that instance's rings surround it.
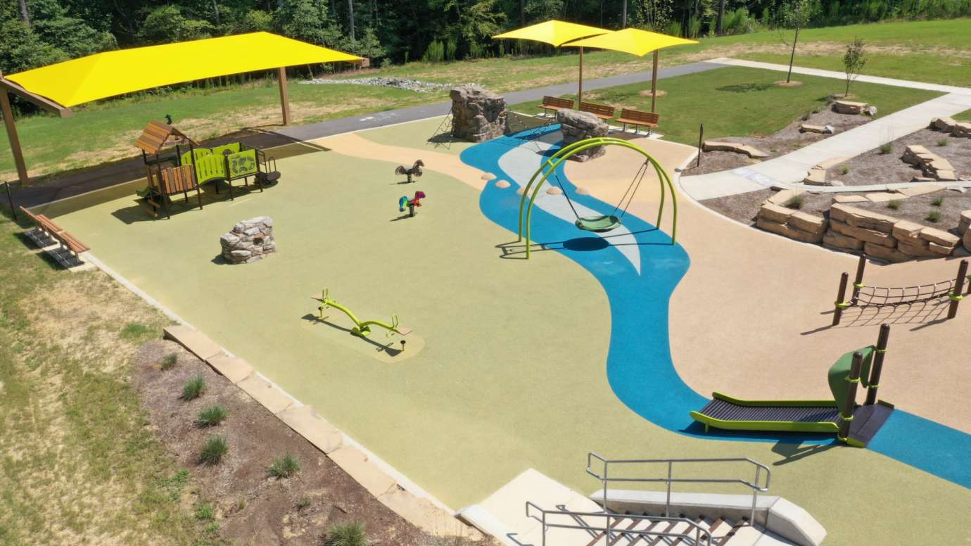
M 533 173 L 533 176 L 529 179 L 529 183 L 526 184 L 525 188 L 523 188 L 522 196 L 519 198 L 519 239 L 517 239 L 517 242 L 518 243 L 521 242 L 523 239 L 523 235 L 525 235 L 526 259 L 529 258 L 529 251 L 530 251 L 530 225 L 532 223 L 531 221 L 532 221 L 532 213 L 533 213 L 533 204 L 536 202 L 536 196 L 539 194 L 540 188 L 543 188 L 543 184 L 547 182 L 547 180 L 550 178 L 550 175 L 552 175 L 556 171 L 556 168 L 559 167 L 559 165 L 562 164 L 563 161 L 569 159 L 571 156 L 575 154 L 580 154 L 585 150 L 589 150 L 590 148 L 595 148 L 597 146 L 621 146 L 623 148 L 628 148 L 630 150 L 633 150 L 638 154 L 644 155 L 644 157 L 646 158 L 646 161 L 653 166 L 654 172 L 657 173 L 657 179 L 660 182 L 660 188 L 661 188 L 661 200 L 660 200 L 660 205 L 658 206 L 658 209 L 657 209 L 657 222 L 655 222 L 654 225 L 656 225 L 657 228 L 660 229 L 661 220 L 663 219 L 663 215 L 664 215 L 664 201 L 665 201 L 666 192 L 667 192 L 665 187 L 667 187 L 667 189 L 671 191 L 671 205 L 674 213 L 671 221 L 671 244 L 674 245 L 675 242 L 677 241 L 678 197 L 674 190 L 674 184 L 672 184 L 671 182 L 671 177 L 668 176 L 664 168 L 661 167 L 660 163 L 658 163 L 657 160 L 654 159 L 651 154 L 648 154 L 643 148 L 637 145 L 631 144 L 626 140 L 621 140 L 619 138 L 613 138 L 613 137 L 595 137 L 595 138 L 588 138 L 586 140 L 575 142 L 569 146 L 566 146 L 560 149 L 555 154 L 552 154 L 552 156 L 549 159 L 547 159 L 542 165 L 540 165 L 540 168 L 537 169 L 535 173 Z M 537 177 L 539 177 L 540 174 L 542 174 L 543 177 L 540 178 L 539 183 L 534 186 L 534 183 L 537 181 Z M 532 191 L 530 191 L 530 189 Z M 526 195 L 529 195 L 528 207 L 526 207 Z M 564 196 L 567 198 L 567 200 L 570 199 L 570 197 L 566 195 L 565 191 L 564 191 Z M 624 194 L 624 197 L 626 197 L 626 193 Z M 633 199 L 633 194 L 631 194 L 631 200 L 632 199 Z M 622 203 L 623 203 L 623 197 L 620 198 L 620 204 Z M 630 202 L 628 201 L 627 204 L 629 205 Z M 570 206 L 572 208 L 573 204 L 571 203 Z M 617 211 L 618 208 L 619 208 L 619 205 L 618 207 L 615 207 L 615 212 Z M 526 211 L 525 222 L 522 222 L 523 209 L 525 209 Z M 626 207 L 624 207 L 624 211 L 626 211 Z M 574 210 L 574 213 L 576 213 L 576 210 Z M 603 215 L 598 217 L 585 217 L 585 218 L 581 218 L 578 215 L 576 223 L 577 223 L 577 227 L 581 229 L 586 229 L 587 231 L 600 232 L 600 231 L 610 231 L 611 229 L 618 227 L 620 224 L 620 221 L 618 217 L 615 217 L 613 215 L 610 215 L 610 216 Z

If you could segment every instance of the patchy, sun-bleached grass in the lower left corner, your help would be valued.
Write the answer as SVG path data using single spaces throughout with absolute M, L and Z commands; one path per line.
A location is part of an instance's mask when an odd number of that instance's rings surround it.
M 205 544 L 128 358 L 166 319 L 100 271 L 55 270 L 0 217 L 0 544 Z

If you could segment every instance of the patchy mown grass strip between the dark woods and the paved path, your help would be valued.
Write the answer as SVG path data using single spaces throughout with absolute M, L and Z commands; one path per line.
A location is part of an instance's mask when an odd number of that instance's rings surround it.
M 870 51 L 865 74 L 924 82 L 971 85 L 971 51 L 966 45 L 971 19 L 885 22 L 807 29 L 800 36 L 796 64 L 841 70 L 846 43 L 863 39 Z M 790 33 L 774 30 L 703 39 L 700 44 L 663 51 L 662 65 L 718 56 L 787 62 L 784 40 Z M 585 77 L 599 78 L 650 70 L 651 55 L 635 57 L 613 51 L 589 52 Z M 376 75 L 417 78 L 451 84 L 476 83 L 499 92 L 562 84 L 576 79 L 577 55 L 499 58 L 441 64 L 410 63 L 375 71 Z M 349 74 L 354 76 L 355 74 Z M 308 123 L 419 103 L 445 100 L 447 93 L 417 93 L 358 85 L 290 85 L 294 123 Z M 695 95 L 699 101 L 704 97 Z M 235 87 L 221 91 L 143 95 L 77 110 L 71 119 L 36 116 L 17 123 L 32 176 L 83 168 L 133 156 L 132 146 L 149 119 L 171 114 L 196 138 L 226 134 L 243 127 L 274 125 L 280 120 L 276 85 Z M 733 131 L 733 134 L 739 134 Z M 15 178 L 6 133 L 0 132 L 0 180 Z

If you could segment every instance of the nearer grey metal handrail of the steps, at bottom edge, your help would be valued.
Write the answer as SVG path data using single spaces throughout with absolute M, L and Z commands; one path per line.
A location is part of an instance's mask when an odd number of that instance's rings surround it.
M 539 512 L 539 515 L 537 515 L 533 510 L 535 510 L 535 512 Z M 582 524 L 577 523 L 577 524 L 570 525 L 570 524 L 549 523 L 547 522 L 547 515 L 568 516 L 573 521 L 579 521 L 579 522 L 582 522 Z M 548 510 L 546 508 L 542 508 L 536 505 L 533 502 L 530 502 L 529 500 L 526 501 L 526 517 L 532 518 L 537 522 L 540 522 L 540 524 L 542 524 L 543 526 L 542 546 L 546 546 L 546 531 L 547 529 L 551 529 L 551 528 L 580 529 L 580 530 L 586 530 L 587 532 L 594 532 L 594 533 L 599 532 L 606 535 L 608 544 L 613 543 L 614 538 L 619 537 L 620 535 L 649 536 L 649 537 L 659 537 L 659 538 L 670 537 L 670 538 L 682 538 L 682 539 L 688 539 L 688 540 L 690 540 L 691 536 L 693 535 L 694 544 L 696 545 L 706 544 L 707 546 L 712 546 L 711 529 L 708 529 L 707 527 L 704 527 L 699 523 L 689 520 L 687 518 L 669 518 L 666 516 L 660 517 L 660 516 L 638 516 L 638 515 L 630 515 L 630 514 L 615 514 L 607 511 L 574 512 L 566 509 Z M 588 525 L 583 518 L 606 518 L 607 525 L 606 527 L 591 526 L 591 525 Z M 611 526 L 611 518 L 617 519 L 618 522 L 620 520 L 631 520 L 631 521 L 648 520 L 651 522 L 685 523 L 687 525 L 687 529 L 681 532 L 668 532 L 666 530 L 650 530 L 650 529 L 617 529 Z M 668 529 L 670 529 L 670 527 L 671 526 L 669 526 Z

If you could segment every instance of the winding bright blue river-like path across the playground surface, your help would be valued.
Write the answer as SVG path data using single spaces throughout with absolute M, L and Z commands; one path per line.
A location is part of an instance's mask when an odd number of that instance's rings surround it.
M 558 125 L 552 125 L 533 131 L 530 137 L 558 128 Z M 526 143 L 525 138 L 517 135 L 500 137 L 465 150 L 461 160 L 494 173 L 500 179 L 514 181 L 516 179 L 499 166 L 499 158 Z M 553 147 L 553 151 L 556 148 Z M 613 205 L 588 195 L 576 194 L 562 167 L 558 174 L 575 202 L 601 214 L 609 214 L 614 209 Z M 524 185 L 527 181 L 516 182 Z M 480 208 L 490 221 L 515 234 L 518 232 L 519 195 L 513 188 L 486 185 L 480 197 Z M 665 215 L 664 222 L 669 219 L 670 212 Z M 670 236 L 653 224 L 633 215 L 624 217 L 623 223 L 637 241 L 640 274 L 611 244 L 609 234 L 602 237 L 581 231 L 572 222 L 564 222 L 543 211 L 538 204 L 532 215 L 534 244 L 542 243 L 548 249 L 545 252 L 557 252 L 576 261 L 596 277 L 607 292 L 612 317 L 607 378 L 620 401 L 658 427 L 691 436 L 794 444 L 836 442 L 829 434 L 741 432 L 716 428 L 704 432 L 704 428 L 688 416 L 688 412 L 701 408 L 709 398 L 692 391 L 675 369 L 668 340 L 667 310 L 671 293 L 685 275 L 690 259 L 684 247 L 671 245 Z M 524 257 L 515 254 L 521 253 L 521 243 L 511 244 L 507 249 L 511 253 L 509 257 Z M 533 254 L 536 255 L 534 258 L 542 258 L 543 251 L 534 250 Z M 825 381 L 825 377 L 820 376 L 820 381 Z M 869 449 L 971 488 L 971 435 L 960 430 L 898 409 L 870 443 Z

